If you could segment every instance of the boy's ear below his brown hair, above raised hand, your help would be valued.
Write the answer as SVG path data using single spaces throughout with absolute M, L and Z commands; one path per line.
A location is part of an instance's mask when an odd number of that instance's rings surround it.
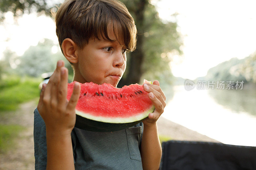
M 78 62 L 78 57 L 77 57 L 78 47 L 73 40 L 71 40 L 70 38 L 66 38 L 62 42 L 61 48 L 62 48 L 64 56 L 67 58 L 67 60 L 69 62 L 71 62 L 71 63 Z

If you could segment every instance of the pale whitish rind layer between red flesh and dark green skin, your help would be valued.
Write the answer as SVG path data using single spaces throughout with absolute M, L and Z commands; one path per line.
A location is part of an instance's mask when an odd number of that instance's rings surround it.
M 118 117 L 118 118 L 113 118 L 113 117 L 103 117 L 103 116 L 93 116 L 88 113 L 83 113 L 81 111 L 76 110 L 76 115 L 82 116 L 87 119 L 91 119 L 94 121 L 98 122 L 105 122 L 105 123 L 130 123 L 130 122 L 136 122 L 144 119 L 145 117 L 148 117 L 149 113 L 153 113 L 155 110 L 155 106 L 153 105 L 150 109 L 148 109 L 146 112 L 141 113 L 136 116 L 131 116 L 131 117 Z

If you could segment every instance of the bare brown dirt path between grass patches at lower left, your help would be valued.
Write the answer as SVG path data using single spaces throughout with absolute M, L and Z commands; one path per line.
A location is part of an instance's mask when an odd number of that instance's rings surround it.
M 1 124 L 18 124 L 27 129 L 22 131 L 15 141 L 16 146 L 7 153 L 0 154 L 0 169 L 3 170 L 30 170 L 35 169 L 34 158 L 34 110 L 36 102 L 30 101 L 20 105 L 15 112 L 8 112 L 0 120 Z M 10 119 L 11 118 L 11 119 Z

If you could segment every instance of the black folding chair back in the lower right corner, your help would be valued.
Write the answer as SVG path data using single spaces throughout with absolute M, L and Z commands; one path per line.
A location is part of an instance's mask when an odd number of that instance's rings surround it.
M 160 170 L 256 170 L 256 147 L 212 142 L 162 143 Z

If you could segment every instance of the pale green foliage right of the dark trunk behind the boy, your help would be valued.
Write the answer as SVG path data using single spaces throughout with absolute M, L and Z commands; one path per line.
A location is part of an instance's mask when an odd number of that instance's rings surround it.
M 149 4 L 145 15 L 145 43 L 143 51 L 145 59 L 142 64 L 142 78 L 158 79 L 164 84 L 172 84 L 173 75 L 169 63 L 172 62 L 167 53 L 176 51 L 182 54 L 181 35 L 177 32 L 177 23 L 163 23 L 157 18 L 157 12 L 153 5 Z M 176 14 L 173 15 L 176 17 Z

